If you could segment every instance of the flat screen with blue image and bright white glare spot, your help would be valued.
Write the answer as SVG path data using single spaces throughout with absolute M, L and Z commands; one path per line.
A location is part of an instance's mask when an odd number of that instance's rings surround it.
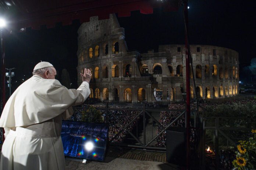
M 107 123 L 62 121 L 64 155 L 103 162 L 109 134 Z

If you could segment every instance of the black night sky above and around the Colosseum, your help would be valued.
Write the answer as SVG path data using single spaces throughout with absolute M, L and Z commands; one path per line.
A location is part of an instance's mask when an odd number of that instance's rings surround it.
M 239 52 L 240 70 L 256 57 L 256 3 L 253 1 L 191 0 L 189 3 L 190 44 L 216 45 Z M 185 44 L 182 10 L 144 15 L 139 11 L 118 18 L 125 28 L 130 51 L 141 53 L 158 50 L 161 44 Z M 52 63 L 61 77 L 67 69 L 72 88 L 77 87 L 77 29 L 79 21 L 53 29 L 27 29 L 25 33 L 6 35 L 6 67 L 17 68 L 13 78 L 15 89 L 32 75 L 35 64 Z M 24 76 L 25 75 L 25 76 Z M 242 79 L 242 77 L 240 77 Z M 60 78 L 58 78 L 60 80 Z M 17 83 L 15 83 L 17 81 Z

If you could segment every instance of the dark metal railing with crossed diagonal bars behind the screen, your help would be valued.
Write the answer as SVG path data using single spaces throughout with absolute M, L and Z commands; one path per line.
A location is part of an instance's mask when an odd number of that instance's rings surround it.
M 132 104 L 131 104 L 132 105 Z M 185 115 L 185 110 L 176 110 L 176 109 L 168 109 L 168 108 L 147 108 L 146 104 L 136 104 L 135 106 L 137 106 L 137 108 L 112 108 L 109 107 L 109 103 L 105 103 L 105 107 L 96 107 L 96 109 L 102 110 L 103 114 L 105 114 L 105 118 L 106 118 L 106 123 L 110 123 L 109 122 L 109 118 L 112 117 L 115 121 L 117 121 L 117 123 L 119 125 L 122 126 L 121 130 L 115 134 L 115 136 L 113 138 L 110 139 L 110 144 L 111 145 L 120 145 L 120 146 L 125 146 L 125 147 L 131 147 L 131 148 L 142 148 L 142 149 L 152 149 L 152 150 L 166 150 L 166 147 L 154 147 L 154 146 L 150 146 L 150 144 L 152 144 L 153 141 L 155 141 L 157 139 L 157 137 L 159 137 L 161 134 L 163 134 L 164 132 L 166 132 L 166 130 L 171 127 L 172 125 L 174 125 L 174 123 L 176 123 L 179 119 L 181 119 L 181 117 L 183 115 Z M 85 108 L 83 107 L 74 107 L 75 110 L 75 116 L 79 115 L 81 116 L 81 110 L 83 110 Z M 127 122 L 126 125 L 124 125 L 124 123 L 122 123 L 122 120 L 120 120 L 113 112 L 112 110 L 136 110 L 139 111 L 138 114 L 135 115 L 135 117 L 133 117 L 131 119 L 131 121 Z M 166 127 L 164 127 L 156 118 L 153 117 L 152 114 L 150 114 L 151 111 L 175 111 L 175 112 L 180 112 L 178 114 L 177 117 L 173 118 L 173 121 L 171 121 L 170 123 L 168 123 L 168 125 Z M 194 118 L 194 122 L 192 124 L 196 125 L 196 117 L 197 117 L 197 112 L 195 110 L 192 110 L 193 114 L 192 118 Z M 131 131 L 129 130 L 129 126 L 139 117 L 142 117 L 143 119 L 143 128 L 142 128 L 142 138 L 143 140 L 141 141 L 138 136 L 135 136 L 135 134 L 133 134 Z M 151 118 L 152 121 L 154 121 L 159 127 L 161 127 L 161 131 L 158 132 L 156 135 L 152 135 L 152 139 L 149 140 L 148 142 L 146 142 L 146 117 Z M 75 121 L 77 121 L 76 119 L 74 119 Z M 195 127 L 195 126 L 194 126 Z M 127 133 L 129 133 L 135 140 L 136 140 L 136 144 L 128 144 L 128 143 L 113 143 L 113 141 L 120 136 L 120 134 L 122 134 L 122 132 L 127 131 Z M 153 134 L 153 133 L 152 133 Z

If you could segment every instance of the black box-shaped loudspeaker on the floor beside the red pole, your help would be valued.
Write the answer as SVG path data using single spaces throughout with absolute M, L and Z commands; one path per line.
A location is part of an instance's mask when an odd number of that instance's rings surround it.
M 186 128 L 170 127 L 166 130 L 166 161 L 186 165 Z

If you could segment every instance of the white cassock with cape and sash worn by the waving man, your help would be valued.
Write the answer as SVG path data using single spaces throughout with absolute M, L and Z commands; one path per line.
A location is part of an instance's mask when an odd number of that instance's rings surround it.
M 88 82 L 67 89 L 58 80 L 33 75 L 7 101 L 0 118 L 6 139 L 0 170 L 64 170 L 61 118 L 90 95 Z

